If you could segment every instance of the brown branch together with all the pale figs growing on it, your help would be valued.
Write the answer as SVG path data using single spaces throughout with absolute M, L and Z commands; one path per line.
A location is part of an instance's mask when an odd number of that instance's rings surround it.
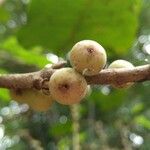
M 69 60 L 72 68 L 65 68 L 64 61 L 38 72 L 1 75 L 0 87 L 10 89 L 14 100 L 45 111 L 53 100 L 64 105 L 80 102 L 91 84 L 127 88 L 134 82 L 150 80 L 150 65 L 134 67 L 126 60 L 116 60 L 103 69 L 106 51 L 91 40 L 76 43 L 69 52 Z

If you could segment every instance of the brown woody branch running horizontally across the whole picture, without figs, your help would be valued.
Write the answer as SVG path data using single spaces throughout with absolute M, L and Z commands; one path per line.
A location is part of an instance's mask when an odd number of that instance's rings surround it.
M 66 65 L 60 62 L 37 72 L 25 74 L 9 74 L 0 76 L 0 87 L 8 89 L 36 88 L 42 89 L 43 82 L 48 81 L 51 75 Z M 98 75 L 85 76 L 88 84 L 124 84 L 128 82 L 143 82 L 150 80 L 150 65 L 142 65 L 133 69 L 104 69 Z M 46 85 L 47 86 L 47 85 Z M 46 87 L 44 87 L 46 88 Z M 47 87 L 48 88 L 48 87 Z

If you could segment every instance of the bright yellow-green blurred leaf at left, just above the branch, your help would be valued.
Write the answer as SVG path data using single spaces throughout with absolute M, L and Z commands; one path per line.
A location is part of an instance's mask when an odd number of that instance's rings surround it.
M 9 37 L 4 42 L 0 43 L 0 49 L 7 51 L 10 55 L 12 55 L 12 58 L 16 60 L 26 64 L 36 65 L 39 68 L 50 63 L 41 53 L 42 49 L 40 47 L 34 47 L 31 50 L 26 50 L 18 43 L 15 37 Z

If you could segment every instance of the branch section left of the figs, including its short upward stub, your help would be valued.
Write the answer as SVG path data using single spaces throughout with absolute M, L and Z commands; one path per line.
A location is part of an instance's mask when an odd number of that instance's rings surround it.
M 42 89 L 44 80 L 49 80 L 56 69 L 66 65 L 65 61 L 53 64 L 50 68 L 44 68 L 37 72 L 24 74 L 0 75 L 0 87 L 8 89 Z

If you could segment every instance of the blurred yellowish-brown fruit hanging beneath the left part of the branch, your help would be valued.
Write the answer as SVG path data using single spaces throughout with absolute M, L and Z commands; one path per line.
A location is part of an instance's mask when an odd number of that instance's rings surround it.
M 42 91 L 35 89 L 24 89 L 22 91 L 10 91 L 13 100 L 28 104 L 35 111 L 47 111 L 52 105 L 52 97 L 45 95 Z

